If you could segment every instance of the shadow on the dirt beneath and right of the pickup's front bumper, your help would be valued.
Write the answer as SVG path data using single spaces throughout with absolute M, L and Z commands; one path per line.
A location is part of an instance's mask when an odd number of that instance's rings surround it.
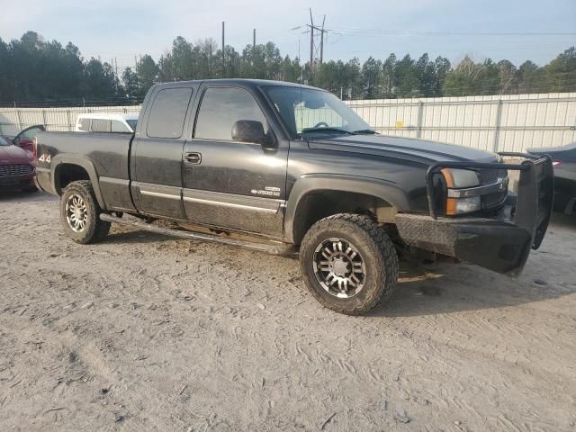
M 532 251 L 517 279 L 478 266 L 415 266 L 404 262 L 390 302 L 370 315 L 409 317 L 481 311 L 576 293 L 576 278 L 568 270 L 575 253 L 574 239 L 576 215 L 553 213 L 545 242 L 538 251 Z

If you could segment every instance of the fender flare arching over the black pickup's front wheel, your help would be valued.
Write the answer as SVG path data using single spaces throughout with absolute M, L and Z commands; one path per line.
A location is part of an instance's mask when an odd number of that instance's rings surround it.
M 300 177 L 288 197 L 284 217 L 284 237 L 294 242 L 294 223 L 302 199 L 315 191 L 361 193 L 389 202 L 397 211 L 410 211 L 410 200 L 397 185 L 361 175 L 311 174 Z

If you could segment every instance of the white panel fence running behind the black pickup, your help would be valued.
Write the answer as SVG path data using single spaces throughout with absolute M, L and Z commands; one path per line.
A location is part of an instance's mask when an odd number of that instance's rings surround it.
M 491 151 L 524 151 L 576 141 L 576 93 L 347 101 L 375 130 Z M 0 108 L 0 134 L 33 124 L 74 130 L 81 112 L 137 114 L 136 106 Z M 310 119 L 308 119 L 310 120 Z

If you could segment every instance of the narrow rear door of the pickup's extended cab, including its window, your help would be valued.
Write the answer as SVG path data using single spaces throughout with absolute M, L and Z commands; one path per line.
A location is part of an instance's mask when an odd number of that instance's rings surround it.
M 139 211 L 185 220 L 182 149 L 193 90 L 184 85 L 162 87 L 146 103 L 130 160 L 131 191 Z

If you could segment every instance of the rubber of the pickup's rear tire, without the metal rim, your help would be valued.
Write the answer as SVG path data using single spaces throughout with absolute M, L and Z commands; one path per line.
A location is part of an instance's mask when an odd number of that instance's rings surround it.
M 86 228 L 82 233 L 75 233 L 72 229 L 67 226 L 66 220 L 66 200 L 69 193 L 80 194 L 86 203 L 86 211 L 88 212 L 88 220 L 86 222 Z M 94 188 L 89 180 L 78 180 L 72 182 L 66 186 L 64 193 L 60 200 L 60 220 L 65 227 L 68 237 L 72 238 L 76 243 L 83 245 L 89 243 L 96 243 L 102 241 L 108 235 L 110 231 L 111 223 L 100 219 L 100 213 L 102 213 L 100 205 L 96 200 L 96 195 L 94 193 Z M 81 235 L 79 235 L 81 234 Z

